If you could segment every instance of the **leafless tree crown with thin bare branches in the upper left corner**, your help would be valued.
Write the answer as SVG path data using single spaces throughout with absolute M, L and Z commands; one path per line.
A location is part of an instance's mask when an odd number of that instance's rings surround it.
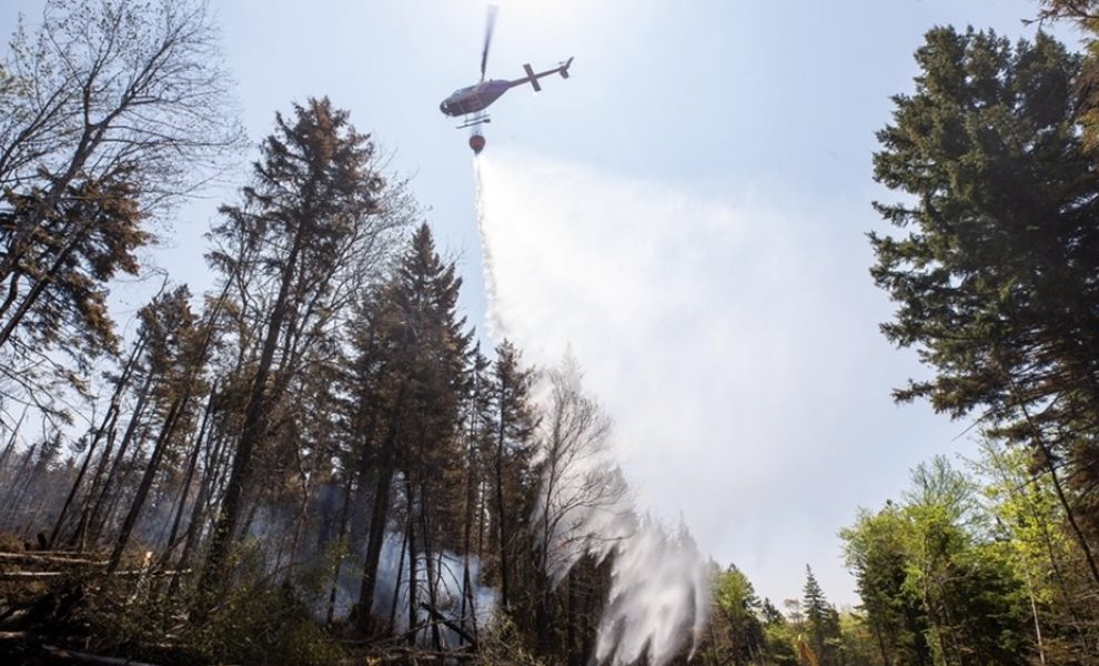
M 0 69 L 0 189 L 42 198 L 0 280 L 82 179 L 127 175 L 142 202 L 211 174 L 243 134 L 204 2 L 47 0 Z

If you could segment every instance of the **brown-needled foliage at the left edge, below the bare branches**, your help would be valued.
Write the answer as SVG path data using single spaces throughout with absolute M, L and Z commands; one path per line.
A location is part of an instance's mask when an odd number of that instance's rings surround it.
M 138 273 L 135 251 L 149 234 L 128 172 L 70 185 L 39 218 L 43 196 L 38 189 L 0 196 L 8 206 L 0 208 L 0 244 L 10 259 L 0 302 L 0 375 L 17 394 L 49 407 L 51 379 L 82 389 L 89 359 L 117 351 L 107 284 L 117 273 Z M 34 230 L 29 236 L 28 229 Z M 61 355 L 81 372 L 60 363 Z

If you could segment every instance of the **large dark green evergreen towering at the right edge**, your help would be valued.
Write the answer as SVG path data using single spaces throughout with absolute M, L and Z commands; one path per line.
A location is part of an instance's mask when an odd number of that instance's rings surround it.
M 1052 38 L 1011 47 L 937 28 L 913 95 L 879 132 L 875 176 L 911 195 L 876 204 L 899 238 L 870 234 L 871 273 L 898 303 L 886 335 L 936 375 L 897 392 L 938 411 L 982 412 L 1049 472 L 1096 588 L 1099 507 L 1099 172 L 1076 124 L 1080 58 Z

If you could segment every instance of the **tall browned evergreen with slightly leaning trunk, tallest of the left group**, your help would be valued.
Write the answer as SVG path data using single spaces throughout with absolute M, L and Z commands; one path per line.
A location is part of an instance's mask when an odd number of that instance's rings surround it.
M 222 249 L 210 259 L 226 281 L 253 292 L 239 297 L 262 306 L 256 319 L 263 333 L 250 364 L 232 473 L 206 556 L 206 588 L 224 574 L 255 447 L 265 440 L 273 406 L 301 367 L 306 334 L 330 312 L 337 273 L 356 268 L 346 265 L 355 248 L 379 233 L 377 194 L 384 182 L 373 160 L 373 144 L 354 130 L 345 111 L 327 99 L 310 100 L 295 105 L 291 119 L 276 114 L 275 131 L 263 142 L 253 169 L 253 184 L 242 190 L 243 205 L 222 208 L 225 222 L 214 230 Z M 248 273 L 256 283 L 244 282 Z

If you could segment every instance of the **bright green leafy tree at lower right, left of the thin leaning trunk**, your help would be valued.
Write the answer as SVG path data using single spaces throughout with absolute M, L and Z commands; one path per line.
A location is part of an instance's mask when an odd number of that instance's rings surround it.
M 861 512 L 840 533 L 884 660 L 1026 664 L 1034 654 L 1025 582 L 974 493 L 937 458 L 914 471 L 904 505 Z

